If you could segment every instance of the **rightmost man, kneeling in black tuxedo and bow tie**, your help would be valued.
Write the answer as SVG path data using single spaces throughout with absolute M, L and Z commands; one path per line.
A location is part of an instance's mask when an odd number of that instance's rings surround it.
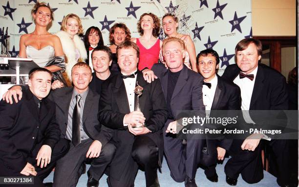
M 288 110 L 285 78 L 276 70 L 258 63 L 261 55 L 262 44 L 259 40 L 242 39 L 235 47 L 236 64 L 229 65 L 222 75 L 240 87 L 244 119 L 247 123 L 257 125 L 258 119 L 245 115 L 246 111 Z M 277 158 L 278 184 L 280 186 L 289 184 L 288 141 L 270 141 L 271 138 L 262 133 L 251 134 L 245 140 L 234 140 L 232 150 L 236 155 L 228 160 L 225 166 L 228 184 L 236 185 L 240 173 L 248 183 L 257 183 L 263 178 L 261 139 L 267 140 L 264 142 L 272 148 Z

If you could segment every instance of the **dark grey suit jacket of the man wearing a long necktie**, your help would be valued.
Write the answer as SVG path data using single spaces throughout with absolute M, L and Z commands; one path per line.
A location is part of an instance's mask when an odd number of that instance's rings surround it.
M 65 87 L 61 89 L 55 89 L 51 91 L 48 98 L 55 102 L 56 105 L 56 118 L 61 129 L 61 138 L 65 137 L 68 110 L 73 94 L 72 87 Z M 92 140 L 99 140 L 102 143 L 102 147 L 111 139 L 112 131 L 108 128 L 101 127 L 98 121 L 98 107 L 99 107 L 100 95 L 95 91 L 89 89 L 83 111 L 83 129 L 89 138 Z

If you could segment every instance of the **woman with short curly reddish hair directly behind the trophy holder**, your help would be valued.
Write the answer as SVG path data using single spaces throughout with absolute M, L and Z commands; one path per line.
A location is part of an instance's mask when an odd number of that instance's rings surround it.
M 131 39 L 131 33 L 128 27 L 124 23 L 115 23 L 109 32 L 109 48 L 112 51 L 112 64 L 110 66 L 111 71 L 120 71 L 117 64 L 116 48 L 125 40 Z

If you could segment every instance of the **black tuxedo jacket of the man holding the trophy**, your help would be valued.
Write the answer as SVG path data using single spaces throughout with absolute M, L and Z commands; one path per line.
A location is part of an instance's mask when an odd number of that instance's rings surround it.
M 147 134 L 159 148 L 159 164 L 163 157 L 162 127 L 167 118 L 166 104 L 159 80 L 150 84 L 143 78 L 141 72 L 137 72 L 138 84 L 143 87 L 143 93 L 139 97 L 142 113 L 146 118 L 146 127 L 151 131 Z M 135 103 L 136 103 L 135 95 Z M 128 158 L 131 157 L 134 135 L 124 127 L 124 116 L 130 113 L 126 87 L 121 75 L 111 77 L 109 81 L 102 84 L 99 121 L 108 128 L 114 129 L 113 143 L 116 146 L 116 153 L 111 162 L 110 175 L 118 179 Z

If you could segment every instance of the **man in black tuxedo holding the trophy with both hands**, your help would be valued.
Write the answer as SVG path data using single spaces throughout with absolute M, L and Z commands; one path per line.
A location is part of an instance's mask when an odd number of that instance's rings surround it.
M 112 141 L 116 146 L 110 164 L 109 187 L 133 187 L 138 167 L 145 170 L 146 186 L 159 187 L 157 168 L 163 156 L 162 127 L 167 111 L 161 84 L 150 84 L 137 71 L 139 48 L 125 41 L 117 47 L 119 75 L 102 85 L 99 121 L 114 129 Z M 139 98 L 140 111 L 134 110 L 137 96 L 135 87 L 143 87 Z M 134 125 L 145 124 L 145 127 Z

